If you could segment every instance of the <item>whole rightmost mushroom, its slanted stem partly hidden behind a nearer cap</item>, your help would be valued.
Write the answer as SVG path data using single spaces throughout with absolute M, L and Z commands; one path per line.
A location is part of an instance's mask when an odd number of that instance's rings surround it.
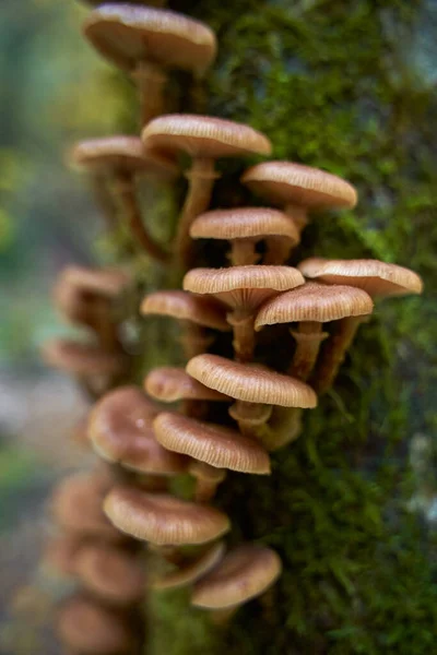
M 378 260 L 310 258 L 299 264 L 299 270 L 306 277 L 327 284 L 347 284 L 364 289 L 374 298 L 421 294 L 423 289 L 421 277 L 413 271 Z M 314 374 L 314 386 L 319 394 L 332 385 L 362 321 L 359 315 L 340 321 Z

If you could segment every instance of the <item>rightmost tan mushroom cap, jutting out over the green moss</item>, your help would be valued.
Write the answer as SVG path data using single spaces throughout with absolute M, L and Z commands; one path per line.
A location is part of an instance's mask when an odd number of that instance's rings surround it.
M 305 277 L 328 284 L 349 284 L 370 296 L 403 296 L 422 294 L 421 277 L 403 266 L 378 260 L 326 260 L 309 258 L 299 264 Z

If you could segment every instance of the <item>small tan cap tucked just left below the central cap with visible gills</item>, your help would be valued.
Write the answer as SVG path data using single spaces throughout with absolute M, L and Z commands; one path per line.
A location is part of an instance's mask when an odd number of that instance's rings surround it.
M 178 289 L 149 294 L 141 303 L 140 312 L 191 321 L 222 332 L 229 330 L 225 308 L 220 302 Z

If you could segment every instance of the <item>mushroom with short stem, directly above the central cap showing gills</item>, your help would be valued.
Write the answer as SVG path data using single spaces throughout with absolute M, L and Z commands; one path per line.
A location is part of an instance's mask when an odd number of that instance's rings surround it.
M 256 264 L 258 242 L 265 240 L 264 264 L 282 264 L 288 259 L 299 234 L 294 222 L 277 210 L 244 207 L 215 210 L 200 214 L 191 224 L 193 239 L 226 239 L 231 241 L 233 266 Z

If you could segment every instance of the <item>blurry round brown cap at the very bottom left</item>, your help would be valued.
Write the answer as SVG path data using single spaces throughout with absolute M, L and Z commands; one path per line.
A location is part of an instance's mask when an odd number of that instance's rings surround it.
M 57 632 L 64 645 L 81 655 L 118 655 L 132 647 L 126 617 L 84 596 L 69 599 L 57 616 Z

